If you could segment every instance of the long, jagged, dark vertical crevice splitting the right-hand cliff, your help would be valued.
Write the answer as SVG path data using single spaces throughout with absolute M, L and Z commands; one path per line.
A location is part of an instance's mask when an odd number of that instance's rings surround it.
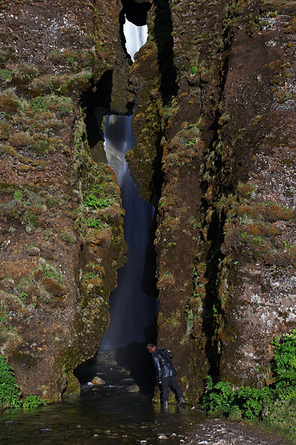
M 225 58 L 221 66 L 220 71 L 220 81 L 218 86 L 218 101 L 223 100 L 224 88 L 226 85 L 226 78 L 228 75 L 228 50 L 230 49 L 233 41 L 233 35 L 229 30 L 223 34 L 224 40 L 224 54 Z M 209 127 L 209 132 L 213 135 L 211 142 L 209 143 L 209 153 L 210 157 L 214 153 L 214 167 L 211 170 L 204 167 L 204 174 L 210 174 L 211 176 L 211 186 L 216 187 L 216 198 L 214 202 L 209 203 L 206 198 L 202 198 L 202 208 L 204 215 L 206 217 L 209 211 L 213 211 L 211 220 L 209 222 L 209 227 L 207 230 L 207 241 L 210 242 L 209 251 L 206 258 L 206 297 L 204 299 L 204 311 L 203 311 L 203 321 L 202 328 L 206 336 L 206 358 L 209 362 L 209 375 L 213 379 L 214 383 L 219 380 L 220 377 L 220 361 L 221 361 L 221 348 L 222 341 L 219 338 L 219 328 L 223 325 L 224 312 L 221 308 L 221 301 L 218 298 L 218 288 L 221 283 L 219 283 L 219 264 L 225 258 L 225 255 L 221 252 L 221 245 L 224 241 L 224 224 L 226 221 L 226 215 L 224 213 L 219 213 L 216 209 L 216 201 L 218 201 L 219 196 L 222 193 L 231 193 L 229 186 L 223 186 L 223 182 L 220 180 L 220 172 L 223 169 L 223 161 L 221 154 L 217 153 L 215 148 L 219 141 L 219 133 L 221 131 L 221 124 L 219 124 L 219 119 L 221 118 L 221 111 L 216 109 L 214 119 Z M 214 184 L 213 184 L 214 183 Z M 202 183 L 203 195 L 206 196 L 206 192 L 209 188 L 209 181 L 206 180 Z M 232 188 L 232 187 L 231 187 Z

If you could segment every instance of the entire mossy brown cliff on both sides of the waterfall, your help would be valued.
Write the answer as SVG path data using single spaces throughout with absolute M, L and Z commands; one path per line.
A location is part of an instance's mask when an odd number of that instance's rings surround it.
M 123 7 L 149 25 L 124 80 Z M 192 401 L 207 374 L 269 382 L 270 342 L 296 326 L 295 15 L 281 0 L 1 6 L 0 340 L 24 396 L 60 398 L 108 326 L 123 210 L 94 107 L 129 114 L 132 94 L 159 345 Z

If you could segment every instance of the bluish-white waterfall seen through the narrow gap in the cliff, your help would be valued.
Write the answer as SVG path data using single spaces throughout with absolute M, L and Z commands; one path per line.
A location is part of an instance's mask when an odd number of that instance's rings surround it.
M 134 57 L 147 40 L 147 26 L 135 26 L 125 21 L 126 48 Z M 157 299 L 141 289 L 144 262 L 149 242 L 149 227 L 154 218 L 154 207 L 140 198 L 130 176 L 125 153 L 134 141 L 130 124 L 132 116 L 106 117 L 105 151 L 109 165 L 116 173 L 125 209 L 124 231 L 128 243 L 128 263 L 118 270 L 118 286 L 110 297 L 110 328 L 101 341 L 100 349 L 119 348 L 132 342 L 147 341 L 145 329 L 157 317 Z

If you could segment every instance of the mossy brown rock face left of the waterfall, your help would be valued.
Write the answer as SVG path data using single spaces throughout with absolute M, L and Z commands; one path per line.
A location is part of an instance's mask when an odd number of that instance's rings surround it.
M 92 158 L 80 104 L 116 64 L 121 8 L 1 6 L 0 344 L 23 396 L 79 389 L 73 369 L 109 324 L 123 210 L 113 171 Z M 99 150 L 104 159 L 97 141 Z

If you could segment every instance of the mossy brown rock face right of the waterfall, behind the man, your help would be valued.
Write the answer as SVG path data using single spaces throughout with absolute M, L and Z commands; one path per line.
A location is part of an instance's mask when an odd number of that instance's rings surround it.
M 295 327 L 295 13 L 154 1 L 130 73 L 130 170 L 160 196 L 159 344 L 192 400 L 207 374 L 269 382 L 270 342 Z

